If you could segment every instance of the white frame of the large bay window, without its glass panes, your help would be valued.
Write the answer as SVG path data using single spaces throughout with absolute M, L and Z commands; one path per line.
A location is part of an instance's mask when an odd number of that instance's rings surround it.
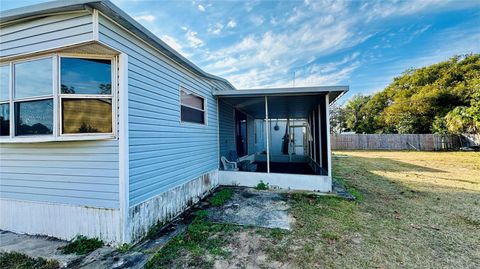
M 80 59 L 104 59 L 111 61 L 111 94 L 61 94 L 61 58 L 80 58 Z M 15 99 L 14 96 L 14 65 L 17 63 L 52 59 L 53 72 L 52 81 L 53 89 L 51 95 L 35 96 L 28 98 Z M 118 112 L 118 57 L 112 55 L 91 55 L 91 54 L 74 54 L 74 53 L 50 53 L 35 57 L 26 57 L 19 60 L 13 60 L 0 63 L 1 66 L 9 65 L 9 99 L 8 101 L 0 101 L 0 104 L 9 103 L 10 112 L 10 135 L 0 136 L 0 143 L 32 143 L 32 142 L 49 142 L 49 141 L 81 141 L 81 140 L 104 140 L 117 138 L 117 112 Z M 62 99 L 111 99 L 112 100 L 112 132 L 111 133 L 78 133 L 78 134 L 62 134 Z M 35 101 L 53 99 L 53 133 L 46 135 L 15 135 L 15 106 L 16 102 Z

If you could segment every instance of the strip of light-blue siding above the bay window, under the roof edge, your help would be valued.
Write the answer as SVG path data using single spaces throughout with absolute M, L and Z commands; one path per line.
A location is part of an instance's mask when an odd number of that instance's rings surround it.
M 58 48 L 93 39 L 92 15 L 86 11 L 35 18 L 0 29 L 0 56 Z

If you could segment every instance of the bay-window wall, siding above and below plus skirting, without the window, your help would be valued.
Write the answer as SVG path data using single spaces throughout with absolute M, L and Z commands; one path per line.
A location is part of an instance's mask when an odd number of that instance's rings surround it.
M 0 29 L 0 56 L 93 40 L 87 11 Z M 0 144 L 0 229 L 72 239 L 120 239 L 118 140 Z

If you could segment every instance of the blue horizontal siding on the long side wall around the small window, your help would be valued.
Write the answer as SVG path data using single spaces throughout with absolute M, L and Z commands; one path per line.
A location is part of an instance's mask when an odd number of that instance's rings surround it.
M 215 82 L 100 16 L 99 39 L 128 55 L 130 205 L 218 168 Z M 206 98 L 207 125 L 180 122 L 180 87 Z

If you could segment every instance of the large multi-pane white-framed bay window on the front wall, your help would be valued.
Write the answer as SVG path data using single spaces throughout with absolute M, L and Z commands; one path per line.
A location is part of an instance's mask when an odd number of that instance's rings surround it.
M 51 55 L 0 65 L 0 136 L 113 135 L 112 59 Z

